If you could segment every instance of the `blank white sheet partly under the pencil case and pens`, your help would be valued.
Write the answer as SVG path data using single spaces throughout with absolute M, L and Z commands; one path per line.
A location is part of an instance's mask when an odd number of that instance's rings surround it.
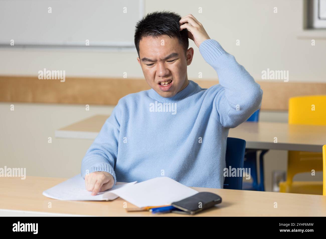
M 170 205 L 198 192 L 168 177 L 157 177 L 114 192 L 138 207 Z

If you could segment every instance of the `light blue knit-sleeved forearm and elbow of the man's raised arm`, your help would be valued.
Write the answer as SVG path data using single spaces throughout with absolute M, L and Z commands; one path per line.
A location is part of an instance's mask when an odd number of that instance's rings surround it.
M 260 107 L 262 90 L 234 56 L 213 39 L 201 43 L 200 53 L 218 74 L 223 86 L 216 96 L 216 107 L 224 127 L 235 127 Z

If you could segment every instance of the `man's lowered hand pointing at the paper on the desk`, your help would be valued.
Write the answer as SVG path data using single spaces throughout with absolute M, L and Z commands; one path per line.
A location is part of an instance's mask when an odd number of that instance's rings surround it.
M 92 191 L 91 195 L 96 195 L 113 187 L 114 178 L 108 172 L 93 172 L 86 174 L 85 186 L 87 191 Z

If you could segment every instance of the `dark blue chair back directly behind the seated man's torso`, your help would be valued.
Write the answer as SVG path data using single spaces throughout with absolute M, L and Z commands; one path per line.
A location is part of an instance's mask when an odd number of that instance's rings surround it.
M 245 140 L 237 138 L 227 138 L 226 143 L 226 167 L 231 168 L 243 168 L 244 167 L 244 151 Z M 243 177 L 225 177 L 224 186 L 225 189 L 242 189 Z

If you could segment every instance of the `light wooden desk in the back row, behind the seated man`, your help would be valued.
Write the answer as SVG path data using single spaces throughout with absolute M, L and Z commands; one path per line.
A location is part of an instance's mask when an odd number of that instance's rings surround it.
M 59 138 L 95 139 L 109 115 L 95 115 L 55 131 Z M 246 141 L 247 149 L 277 149 L 322 152 L 326 126 L 289 125 L 274 122 L 244 122 L 230 129 L 229 137 Z M 277 143 L 274 143 L 277 137 Z

